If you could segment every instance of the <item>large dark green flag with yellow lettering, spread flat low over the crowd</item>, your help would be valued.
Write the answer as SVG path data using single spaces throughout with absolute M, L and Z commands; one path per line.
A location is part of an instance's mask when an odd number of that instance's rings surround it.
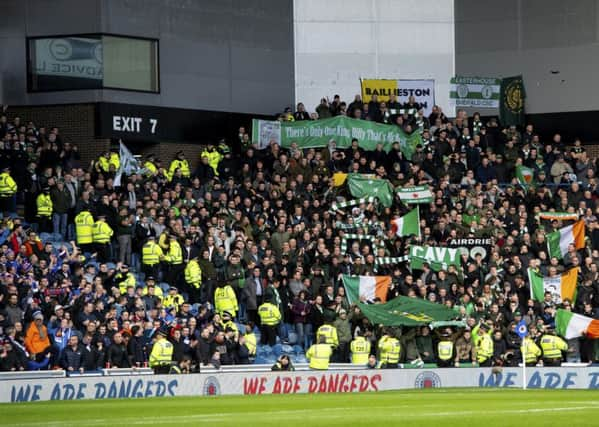
M 359 303 L 358 306 L 373 325 L 420 326 L 456 317 L 455 311 L 442 304 L 404 296 L 385 304 Z

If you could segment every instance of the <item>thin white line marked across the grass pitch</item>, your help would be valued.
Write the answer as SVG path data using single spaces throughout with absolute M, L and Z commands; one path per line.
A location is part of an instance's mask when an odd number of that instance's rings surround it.
M 434 405 L 430 405 L 431 407 Z M 429 417 L 462 417 L 470 415 L 480 414 L 493 414 L 493 415 L 507 415 L 507 414 L 532 414 L 532 413 L 544 413 L 544 412 L 576 412 L 587 409 L 596 409 L 598 405 L 585 405 L 585 406 L 568 406 L 559 408 L 530 408 L 530 409 L 499 409 L 499 410 L 480 410 L 480 411 L 443 411 L 443 412 L 418 412 L 418 413 L 407 413 L 401 414 L 402 418 L 429 418 Z M 380 409 L 396 410 L 400 408 L 415 409 L 412 405 L 405 406 L 385 406 Z M 239 417 L 240 415 L 268 415 L 272 419 L 273 416 L 289 417 L 292 415 L 301 415 L 301 418 L 316 417 L 318 419 L 329 419 L 329 418 L 344 418 L 347 417 L 347 413 L 343 414 L 331 414 L 331 411 L 348 411 L 355 410 L 355 407 L 334 407 L 324 409 L 324 413 L 314 409 L 298 409 L 298 410 L 285 410 L 285 411 L 269 411 L 268 414 L 260 412 L 225 412 L 219 414 L 194 414 L 194 415 L 178 415 L 178 416 L 167 416 L 164 418 L 157 417 L 143 417 L 143 418 L 121 418 L 121 419 L 108 419 L 108 418 L 97 418 L 90 420 L 78 420 L 73 423 L 68 421 L 50 421 L 50 422 L 31 422 L 31 423 L 19 423 L 13 424 L 14 427 L 30 427 L 30 426 L 65 426 L 65 425 L 77 425 L 77 426 L 91 426 L 91 425 L 145 425 L 145 424 L 188 424 L 197 421 L 222 421 L 223 419 L 234 419 L 232 417 Z M 369 408 L 374 409 L 374 408 Z M 371 415 L 368 415 L 371 416 Z

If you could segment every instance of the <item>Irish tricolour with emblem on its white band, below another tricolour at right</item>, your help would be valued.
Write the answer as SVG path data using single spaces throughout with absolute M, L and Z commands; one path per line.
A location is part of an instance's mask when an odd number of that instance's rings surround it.
M 551 293 L 551 299 L 555 304 L 561 304 L 564 300 L 570 302 L 576 300 L 577 268 L 572 268 L 553 277 L 541 276 L 529 268 L 528 280 L 530 282 L 530 296 L 535 301 L 543 301 L 545 292 Z

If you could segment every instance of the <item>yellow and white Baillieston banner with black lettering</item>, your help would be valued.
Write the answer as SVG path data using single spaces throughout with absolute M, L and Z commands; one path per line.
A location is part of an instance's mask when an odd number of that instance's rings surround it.
M 372 95 L 380 101 L 388 101 L 390 95 L 397 97 L 397 102 L 405 104 L 410 96 L 424 107 L 424 114 L 428 116 L 435 105 L 434 80 L 391 80 L 391 79 L 361 79 L 362 100 L 370 102 Z

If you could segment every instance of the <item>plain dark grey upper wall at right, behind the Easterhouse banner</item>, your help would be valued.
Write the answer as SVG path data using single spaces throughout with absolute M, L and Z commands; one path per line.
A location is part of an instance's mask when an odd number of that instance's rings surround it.
M 599 108 L 597 1 L 456 0 L 455 20 L 457 74 L 522 74 L 527 113 Z

